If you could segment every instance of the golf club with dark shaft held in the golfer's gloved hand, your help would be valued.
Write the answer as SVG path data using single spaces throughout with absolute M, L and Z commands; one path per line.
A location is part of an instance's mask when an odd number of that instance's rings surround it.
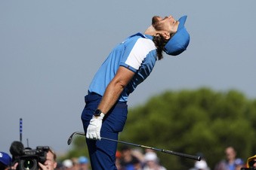
M 72 138 L 73 138 L 74 135 L 85 135 L 85 133 L 84 132 L 73 132 L 72 135 L 70 135 L 70 137 L 67 141 L 68 145 L 71 144 Z M 128 144 L 128 145 L 132 145 L 134 147 L 142 147 L 142 148 L 146 148 L 146 149 L 156 150 L 156 151 L 160 151 L 160 152 L 163 152 L 163 153 L 169 153 L 171 155 L 181 156 L 181 157 L 184 157 L 184 158 L 194 159 L 194 160 L 198 160 L 198 161 L 201 160 L 200 156 L 193 156 L 193 155 L 188 155 L 188 154 L 185 154 L 185 153 L 174 152 L 174 151 L 171 151 L 171 150 L 158 149 L 158 148 L 155 148 L 155 147 L 147 147 L 147 146 L 144 146 L 144 145 L 141 145 L 141 144 L 133 144 L 133 143 L 126 142 L 126 141 L 117 141 L 117 140 L 111 139 L 111 138 L 101 137 L 101 139 L 108 140 L 108 141 L 115 141 L 115 142 L 119 142 L 121 144 Z

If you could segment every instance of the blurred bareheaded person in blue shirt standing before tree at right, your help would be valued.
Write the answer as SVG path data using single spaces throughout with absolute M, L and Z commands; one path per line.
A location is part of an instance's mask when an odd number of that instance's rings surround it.
M 225 150 L 226 159 L 218 162 L 214 170 L 236 170 L 236 150 L 233 147 L 227 147 Z

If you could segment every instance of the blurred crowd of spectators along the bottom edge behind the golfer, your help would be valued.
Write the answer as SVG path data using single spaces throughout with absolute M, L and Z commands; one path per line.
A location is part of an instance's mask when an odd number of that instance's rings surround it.
M 246 161 L 236 156 L 233 147 L 227 147 L 225 158 L 217 162 L 213 170 L 243 170 L 256 169 L 256 155 L 249 156 Z M 17 169 L 17 162 L 12 162 L 12 157 L 6 152 L 0 152 L 0 170 Z M 57 162 L 57 156 L 53 150 L 47 153 L 45 163 L 39 163 L 39 168 L 44 170 L 91 170 L 90 161 L 86 156 L 79 156 L 72 159 L 64 159 Z M 118 170 L 167 170 L 161 165 L 159 157 L 154 150 L 140 150 L 123 145 L 116 152 L 116 167 Z M 189 170 L 211 170 L 207 160 L 202 156 L 201 161 L 195 161 L 194 167 Z

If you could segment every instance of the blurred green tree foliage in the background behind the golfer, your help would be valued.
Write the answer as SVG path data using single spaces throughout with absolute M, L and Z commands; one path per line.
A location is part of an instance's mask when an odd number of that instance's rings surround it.
M 119 140 L 196 155 L 203 153 L 211 169 L 224 159 L 224 149 L 235 147 L 246 160 L 255 154 L 256 100 L 236 90 L 167 91 L 143 106 L 130 108 Z M 67 156 L 88 155 L 85 138 L 76 138 Z M 119 147 L 121 144 L 119 144 Z M 184 170 L 194 161 L 159 152 L 167 169 Z

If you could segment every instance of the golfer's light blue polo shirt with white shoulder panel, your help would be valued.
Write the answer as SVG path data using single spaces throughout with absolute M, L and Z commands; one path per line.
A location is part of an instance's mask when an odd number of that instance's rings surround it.
M 107 85 L 122 66 L 135 73 L 119 98 L 119 102 L 127 102 L 129 94 L 150 75 L 156 64 L 156 46 L 152 40 L 151 35 L 137 33 L 118 44 L 94 75 L 89 92 L 103 96 Z

